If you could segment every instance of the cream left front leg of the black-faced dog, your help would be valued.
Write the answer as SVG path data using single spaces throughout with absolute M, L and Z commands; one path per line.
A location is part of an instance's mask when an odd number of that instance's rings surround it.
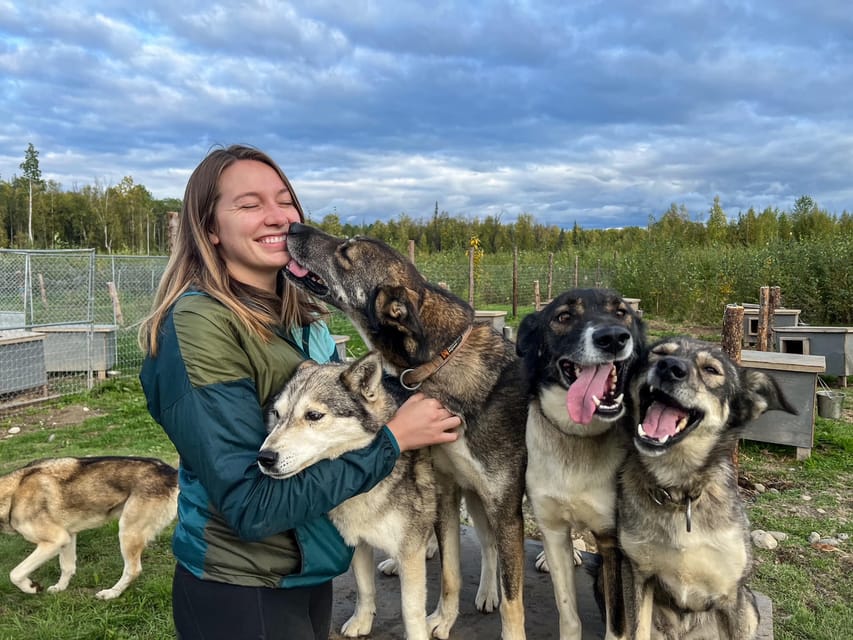
M 574 556 L 571 531 L 564 522 L 551 525 L 540 522 L 540 531 L 557 602 L 560 640 L 580 640 L 581 619 L 578 615 L 575 571 L 573 562 L 569 560 Z

